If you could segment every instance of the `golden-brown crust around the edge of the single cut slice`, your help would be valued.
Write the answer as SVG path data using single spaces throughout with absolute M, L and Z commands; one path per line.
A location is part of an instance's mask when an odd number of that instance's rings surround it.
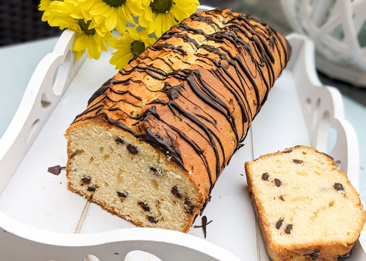
M 276 243 L 272 242 L 272 233 L 269 230 L 269 227 L 265 224 L 269 224 L 269 222 L 266 220 L 264 215 L 264 207 L 261 205 L 261 201 L 257 197 L 257 193 L 261 193 L 260 191 L 257 191 L 257 189 L 253 189 L 253 180 L 252 176 L 249 175 L 250 173 L 250 164 L 253 162 L 256 162 L 258 160 L 262 159 L 268 159 L 272 158 L 273 156 L 281 155 L 286 151 L 290 150 L 306 150 L 307 152 L 311 151 L 318 154 L 318 157 L 327 162 L 328 164 L 332 165 L 332 170 L 335 170 L 339 173 L 339 175 L 346 178 L 347 184 L 355 191 L 353 186 L 350 184 L 350 182 L 347 179 L 347 176 L 337 169 L 337 167 L 334 165 L 334 160 L 329 155 L 324 154 L 322 152 L 319 152 L 315 150 L 314 148 L 310 148 L 307 146 L 296 146 L 292 148 L 285 148 L 284 151 L 278 151 L 275 153 L 270 153 L 266 155 L 261 155 L 259 158 L 253 160 L 252 162 L 246 162 L 245 163 L 245 172 L 247 173 L 247 184 L 248 184 L 248 191 L 251 195 L 251 200 L 253 204 L 253 209 L 255 212 L 255 216 L 257 218 L 259 229 L 261 231 L 261 235 L 266 247 L 266 250 L 268 252 L 269 257 L 273 261 L 298 261 L 298 260 L 312 260 L 310 255 L 315 251 L 315 249 L 320 250 L 319 252 L 314 252 L 317 254 L 316 260 L 321 261 L 333 261 L 336 260 L 339 256 L 343 256 L 347 253 L 349 253 L 355 243 L 358 239 L 358 234 L 356 233 L 354 237 L 350 237 L 349 242 L 314 242 L 311 245 L 304 245 L 304 244 L 296 244 L 294 242 L 294 246 L 292 249 L 289 249 L 287 247 L 283 247 L 281 245 L 277 245 Z M 358 195 L 358 202 L 356 202 L 356 205 L 361 205 L 361 201 L 359 199 L 359 194 L 355 191 L 355 193 Z M 361 205 L 361 209 L 362 205 Z M 363 224 L 365 224 L 366 221 L 366 211 L 363 211 L 362 220 L 360 224 L 355 224 L 356 227 L 354 228 L 355 231 L 361 231 L 363 228 Z M 305 256 L 304 256 L 305 255 Z

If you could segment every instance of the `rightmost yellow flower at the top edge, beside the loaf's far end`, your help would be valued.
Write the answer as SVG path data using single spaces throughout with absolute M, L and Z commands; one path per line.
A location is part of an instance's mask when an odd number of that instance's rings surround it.
M 198 5 L 198 0 L 150 0 L 138 22 L 149 34 L 154 32 L 160 37 L 177 24 L 176 20 L 182 21 L 193 14 Z

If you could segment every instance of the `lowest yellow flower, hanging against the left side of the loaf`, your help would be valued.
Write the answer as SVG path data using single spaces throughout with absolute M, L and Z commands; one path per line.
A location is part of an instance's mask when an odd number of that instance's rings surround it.
M 123 38 L 116 36 L 118 39 L 108 42 L 112 48 L 117 49 L 109 61 L 116 65 L 116 69 L 125 67 L 136 53 L 141 54 L 147 46 L 156 42 L 155 38 L 149 37 L 146 30 L 137 33 L 136 29 L 127 27 L 127 31 Z

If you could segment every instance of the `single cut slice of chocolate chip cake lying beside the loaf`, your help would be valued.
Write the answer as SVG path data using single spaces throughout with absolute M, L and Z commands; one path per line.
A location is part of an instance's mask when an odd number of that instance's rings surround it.
M 296 146 L 246 162 L 245 171 L 273 261 L 335 261 L 351 256 L 366 212 L 332 157 Z

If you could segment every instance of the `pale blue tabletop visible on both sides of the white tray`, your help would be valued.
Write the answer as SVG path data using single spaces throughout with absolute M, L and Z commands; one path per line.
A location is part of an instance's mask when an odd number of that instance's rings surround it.
M 0 137 L 15 115 L 34 69 L 53 51 L 58 37 L 0 48 Z M 346 120 L 354 127 L 360 150 L 359 189 L 366 204 L 366 107 L 342 95 Z M 329 133 L 332 139 L 332 133 Z

